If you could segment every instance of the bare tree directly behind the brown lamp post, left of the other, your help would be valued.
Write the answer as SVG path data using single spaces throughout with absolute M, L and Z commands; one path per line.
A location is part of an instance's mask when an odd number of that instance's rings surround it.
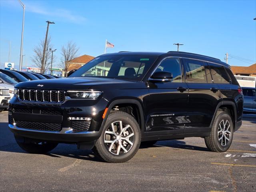
M 34 56 L 32 56 L 31 60 L 34 62 L 34 65 L 41 69 L 41 73 L 45 73 L 51 64 L 51 59 L 54 62 L 55 58 L 51 57 L 49 48 L 52 48 L 51 44 L 51 37 L 48 38 L 46 42 L 46 53 L 45 53 L 45 60 L 44 66 L 42 68 L 42 59 L 43 59 L 43 52 L 44 52 L 44 40 L 41 40 L 40 43 L 33 48 Z

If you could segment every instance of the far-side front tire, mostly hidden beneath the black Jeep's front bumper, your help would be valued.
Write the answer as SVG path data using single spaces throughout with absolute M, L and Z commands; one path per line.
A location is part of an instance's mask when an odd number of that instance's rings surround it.
M 18 146 L 20 146 L 20 148 L 22 148 L 26 152 L 33 153 L 33 154 L 45 154 L 53 150 L 54 148 L 56 148 L 56 146 L 58 145 L 58 143 L 51 143 L 46 141 L 24 143 L 24 142 L 20 142 L 19 137 L 16 137 L 16 136 L 14 137 Z

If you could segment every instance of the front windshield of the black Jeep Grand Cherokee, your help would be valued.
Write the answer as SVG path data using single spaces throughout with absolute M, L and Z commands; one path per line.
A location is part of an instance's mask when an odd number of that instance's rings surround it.
M 100 56 L 69 77 L 107 77 L 141 81 L 156 56 Z

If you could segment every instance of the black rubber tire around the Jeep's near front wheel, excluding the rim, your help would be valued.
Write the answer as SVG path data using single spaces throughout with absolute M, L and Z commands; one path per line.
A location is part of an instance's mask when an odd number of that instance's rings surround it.
M 134 132 L 134 143 L 132 145 L 132 148 L 127 153 L 123 153 L 122 155 L 112 154 L 106 148 L 104 143 L 104 135 L 105 135 L 106 129 L 108 129 L 111 126 L 111 123 L 116 121 L 122 121 L 123 124 L 129 124 Z M 109 162 L 124 162 L 129 160 L 136 154 L 140 146 L 140 139 L 141 139 L 140 127 L 136 122 L 136 120 L 132 116 L 124 112 L 114 112 L 113 114 L 110 114 L 110 116 L 108 116 L 104 129 L 102 130 L 102 134 L 97 141 L 99 146 L 99 148 L 97 149 L 100 150 L 99 154 L 103 154 L 105 157 L 104 159 L 106 160 L 107 158 L 107 161 Z

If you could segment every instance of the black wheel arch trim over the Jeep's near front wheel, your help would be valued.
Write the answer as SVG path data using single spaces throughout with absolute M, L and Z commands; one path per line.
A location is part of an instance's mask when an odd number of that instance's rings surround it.
M 144 125 L 144 115 L 143 115 L 142 105 L 136 99 L 118 99 L 118 100 L 114 100 L 113 102 L 111 102 L 110 105 L 108 106 L 108 111 L 106 112 L 106 116 L 100 126 L 100 132 L 102 132 L 102 129 L 106 123 L 106 120 L 108 118 L 108 115 L 110 114 L 110 110 L 112 109 L 112 107 L 115 106 L 116 104 L 120 104 L 120 103 L 128 103 L 128 104 L 130 103 L 130 104 L 136 104 L 136 106 L 138 106 L 139 113 L 140 113 L 140 119 L 141 119 L 141 132 L 143 132 L 145 125 Z

